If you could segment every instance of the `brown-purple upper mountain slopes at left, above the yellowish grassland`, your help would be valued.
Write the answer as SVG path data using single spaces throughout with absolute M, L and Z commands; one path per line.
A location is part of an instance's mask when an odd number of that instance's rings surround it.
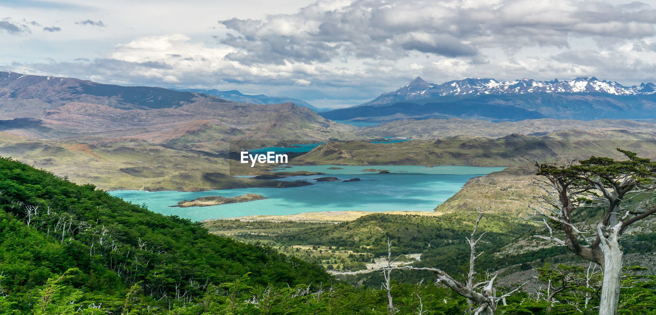
M 333 127 L 350 129 L 289 102 L 263 106 L 197 92 L 14 72 L 0 72 L 0 104 L 0 131 L 30 138 L 155 141 L 213 129 L 215 135 L 205 135 L 203 142 L 255 136 L 325 140 Z M 289 128 L 289 123 L 295 127 Z

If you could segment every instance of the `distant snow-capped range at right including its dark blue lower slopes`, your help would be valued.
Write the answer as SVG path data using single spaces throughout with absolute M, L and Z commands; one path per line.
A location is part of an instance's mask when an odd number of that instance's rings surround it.
M 656 85 L 626 87 L 596 77 L 572 81 L 462 79 L 441 85 L 417 77 L 400 89 L 354 106 L 321 113 L 334 120 L 463 118 L 523 119 L 656 118 Z

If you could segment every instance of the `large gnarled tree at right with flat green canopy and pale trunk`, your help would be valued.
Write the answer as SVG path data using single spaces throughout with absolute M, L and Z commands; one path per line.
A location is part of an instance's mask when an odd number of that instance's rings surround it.
M 549 236 L 537 236 L 564 245 L 587 261 L 599 264 L 604 272 L 600 315 L 617 314 L 622 275 L 621 236 L 631 224 L 656 214 L 653 205 L 626 207 L 626 201 L 655 190 L 656 163 L 638 158 L 633 152 L 617 149 L 628 158 L 615 161 L 595 158 L 574 165 L 535 163 L 538 185 L 545 194 L 530 207 L 543 217 Z M 602 209 L 601 219 L 588 224 L 581 212 Z M 575 219 L 579 215 L 581 219 Z M 553 234 L 564 232 L 564 239 Z M 582 244 L 583 243 L 583 244 Z

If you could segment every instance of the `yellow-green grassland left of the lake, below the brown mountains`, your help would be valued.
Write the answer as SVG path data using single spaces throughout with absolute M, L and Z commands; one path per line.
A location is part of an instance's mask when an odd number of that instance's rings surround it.
M 77 184 L 104 190 L 201 191 L 247 187 L 285 187 L 297 182 L 228 176 L 230 169 L 264 172 L 262 167 L 228 165 L 212 154 L 180 150 L 142 140 L 112 142 L 34 140 L 0 133 L 0 156 L 52 171 Z

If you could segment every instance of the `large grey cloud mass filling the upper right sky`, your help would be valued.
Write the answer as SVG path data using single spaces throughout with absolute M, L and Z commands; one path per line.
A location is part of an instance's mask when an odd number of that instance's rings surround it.
M 655 23 L 656 11 L 644 3 L 613 7 L 590 0 L 318 1 L 295 14 L 219 21 L 235 32 L 220 39 L 237 49 L 227 58 L 247 64 L 564 48 L 580 37 L 650 37 Z

